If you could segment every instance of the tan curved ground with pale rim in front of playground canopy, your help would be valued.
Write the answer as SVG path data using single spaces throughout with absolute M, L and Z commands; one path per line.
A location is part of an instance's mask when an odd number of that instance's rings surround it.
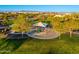
M 27 35 L 29 37 L 36 38 L 36 39 L 54 39 L 59 37 L 59 33 L 55 31 L 40 32 L 40 33 L 30 31 L 29 33 L 27 33 Z

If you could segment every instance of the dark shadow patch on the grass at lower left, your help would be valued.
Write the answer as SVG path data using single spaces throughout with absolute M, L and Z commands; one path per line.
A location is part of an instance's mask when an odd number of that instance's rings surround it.
M 13 52 L 16 49 L 18 49 L 27 39 L 28 38 L 26 39 L 1 39 L 0 40 L 0 51 L 9 50 L 10 52 Z M 4 53 L 6 53 L 6 51 Z

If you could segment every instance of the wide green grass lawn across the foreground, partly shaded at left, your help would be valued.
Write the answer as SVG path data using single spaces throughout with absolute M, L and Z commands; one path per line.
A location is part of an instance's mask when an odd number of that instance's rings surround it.
M 2 54 L 72 54 L 79 53 L 79 36 L 61 35 L 60 39 L 0 39 Z

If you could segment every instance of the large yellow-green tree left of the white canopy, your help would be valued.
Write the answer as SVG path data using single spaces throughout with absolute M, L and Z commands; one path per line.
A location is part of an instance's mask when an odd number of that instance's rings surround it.
M 12 30 L 15 32 L 27 32 L 29 30 L 28 22 L 26 22 L 23 14 L 19 14 L 13 23 Z

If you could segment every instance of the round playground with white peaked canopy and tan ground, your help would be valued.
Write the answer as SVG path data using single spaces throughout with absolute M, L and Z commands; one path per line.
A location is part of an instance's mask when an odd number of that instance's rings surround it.
M 48 24 L 44 24 L 42 22 L 34 24 L 34 28 L 27 35 L 36 39 L 54 39 L 59 36 L 58 32 L 52 31 Z

